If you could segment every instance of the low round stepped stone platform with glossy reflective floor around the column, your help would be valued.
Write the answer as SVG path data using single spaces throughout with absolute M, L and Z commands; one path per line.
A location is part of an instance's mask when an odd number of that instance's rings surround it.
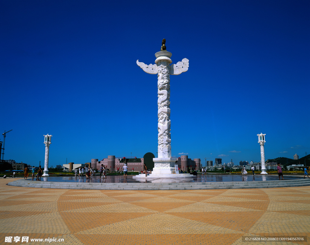
M 135 180 L 131 176 L 128 176 L 127 179 L 124 179 L 123 176 L 108 176 L 107 179 L 96 177 L 93 177 L 90 182 L 86 182 L 85 177 L 42 177 L 41 181 L 32 181 L 31 178 L 28 180 L 18 179 L 8 183 L 8 185 L 86 190 L 206 190 L 310 186 L 310 180 L 308 178 L 285 176 L 285 180 L 279 180 L 277 175 L 249 175 L 244 176 L 245 178 L 242 178 L 241 175 L 230 175 L 230 180 L 228 180 L 229 175 L 212 174 L 190 178 L 188 181 L 185 179 L 170 178 L 146 179 L 143 182 Z M 114 181 L 112 181 L 113 178 L 111 177 L 114 177 Z

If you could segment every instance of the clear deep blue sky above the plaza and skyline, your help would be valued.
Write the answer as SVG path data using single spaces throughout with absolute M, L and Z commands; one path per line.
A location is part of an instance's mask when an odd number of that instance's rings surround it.
M 166 38 L 172 155 L 260 161 L 310 153 L 309 1 L 0 1 L 5 159 L 49 165 L 157 152 Z M 0 135 L 0 140 L 3 140 Z M 1 156 L 2 157 L 2 156 Z

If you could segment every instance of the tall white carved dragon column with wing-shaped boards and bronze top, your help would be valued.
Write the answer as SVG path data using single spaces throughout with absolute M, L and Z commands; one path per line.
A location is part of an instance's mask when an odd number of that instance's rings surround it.
M 161 51 L 155 54 L 155 64 L 146 65 L 137 60 L 137 65 L 149 74 L 157 74 L 158 92 L 158 157 L 153 158 L 155 163 L 152 174 L 172 174 L 177 158 L 171 157 L 170 137 L 170 75 L 179 75 L 188 70 L 188 59 L 172 64 L 172 54 L 166 51 L 166 40 L 162 40 Z

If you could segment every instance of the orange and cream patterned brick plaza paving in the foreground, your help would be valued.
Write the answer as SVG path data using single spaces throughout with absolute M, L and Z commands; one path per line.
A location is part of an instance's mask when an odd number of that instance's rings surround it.
M 309 187 L 114 191 L 6 185 L 13 180 L 0 179 L 0 244 L 310 244 Z M 308 241 L 242 241 L 250 236 Z M 48 238 L 64 240 L 30 241 Z

